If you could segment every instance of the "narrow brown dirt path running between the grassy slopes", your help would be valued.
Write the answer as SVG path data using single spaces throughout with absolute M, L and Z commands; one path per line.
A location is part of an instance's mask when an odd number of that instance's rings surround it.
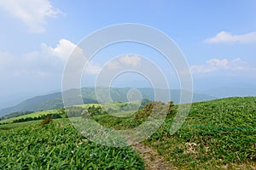
M 157 153 L 154 148 L 145 144 L 133 144 L 132 147 L 140 153 L 140 156 L 145 162 L 146 170 L 158 170 L 158 169 L 177 169 L 172 164 L 166 162 L 162 156 Z

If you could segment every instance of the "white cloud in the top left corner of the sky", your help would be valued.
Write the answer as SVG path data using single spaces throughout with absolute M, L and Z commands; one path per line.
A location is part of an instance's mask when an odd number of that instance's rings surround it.
M 0 8 L 21 20 L 32 32 L 43 32 L 47 24 L 46 19 L 56 18 L 61 14 L 49 0 L 2 0 Z

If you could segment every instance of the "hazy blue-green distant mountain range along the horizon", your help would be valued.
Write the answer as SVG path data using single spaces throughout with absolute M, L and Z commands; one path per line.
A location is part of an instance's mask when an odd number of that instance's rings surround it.
M 127 93 L 131 88 L 111 88 L 110 95 L 113 102 L 125 102 L 128 101 Z M 142 94 L 143 99 L 154 100 L 154 88 L 137 88 Z M 168 90 L 156 89 L 160 93 L 168 93 Z M 84 104 L 97 103 L 95 88 L 82 88 L 81 89 Z M 178 104 L 180 103 L 180 90 L 170 90 L 171 100 Z M 184 94 L 189 94 L 187 91 L 182 91 Z M 205 101 L 216 99 L 207 94 L 193 94 L 193 102 Z M 8 107 L 0 110 L 0 116 L 7 115 L 17 111 L 47 111 L 63 107 L 61 92 L 37 96 L 31 99 L 26 99 L 20 104 L 13 107 Z

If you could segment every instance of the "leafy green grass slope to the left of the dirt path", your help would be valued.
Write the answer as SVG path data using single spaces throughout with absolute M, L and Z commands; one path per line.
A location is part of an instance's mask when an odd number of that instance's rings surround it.
M 65 119 L 0 130 L 0 140 L 0 169 L 143 169 L 135 150 L 91 143 Z

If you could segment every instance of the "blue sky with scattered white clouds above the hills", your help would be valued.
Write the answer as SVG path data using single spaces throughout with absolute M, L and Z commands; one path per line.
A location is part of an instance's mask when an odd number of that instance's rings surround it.
M 195 92 L 235 85 L 253 90 L 256 86 L 255 7 L 254 0 L 2 0 L 0 108 L 61 90 L 63 70 L 77 44 L 91 32 L 123 23 L 152 26 L 171 37 L 188 62 Z M 172 79 L 172 88 L 178 88 L 174 70 L 161 59 L 163 56 L 129 42 L 104 48 L 96 54 L 82 85 L 92 86 L 104 65 L 136 66 L 142 61 L 136 55 L 121 54 L 142 54 L 152 59 Z M 118 55 L 119 59 L 106 64 Z M 131 75 L 124 74 L 113 84 L 125 87 L 129 83 L 131 86 L 148 83 L 145 77 L 133 75 L 131 82 L 127 82 L 127 77 Z

